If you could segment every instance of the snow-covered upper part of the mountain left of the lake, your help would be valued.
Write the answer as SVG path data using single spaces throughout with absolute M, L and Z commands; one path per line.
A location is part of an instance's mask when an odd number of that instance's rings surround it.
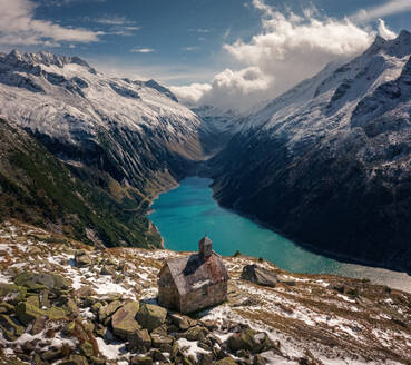
M 190 135 L 199 118 L 154 80 L 107 77 L 77 57 L 0 55 L 0 115 L 33 131 L 76 140 L 110 124 Z

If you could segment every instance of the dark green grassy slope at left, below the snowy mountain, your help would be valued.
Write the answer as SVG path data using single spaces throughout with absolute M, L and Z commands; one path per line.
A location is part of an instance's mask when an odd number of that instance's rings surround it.
M 115 181 L 110 191 L 76 178 L 39 142 L 0 119 L 0 219 L 19 218 L 107 246 L 158 247 L 160 237 L 144 211 L 128 209 L 141 197 Z

